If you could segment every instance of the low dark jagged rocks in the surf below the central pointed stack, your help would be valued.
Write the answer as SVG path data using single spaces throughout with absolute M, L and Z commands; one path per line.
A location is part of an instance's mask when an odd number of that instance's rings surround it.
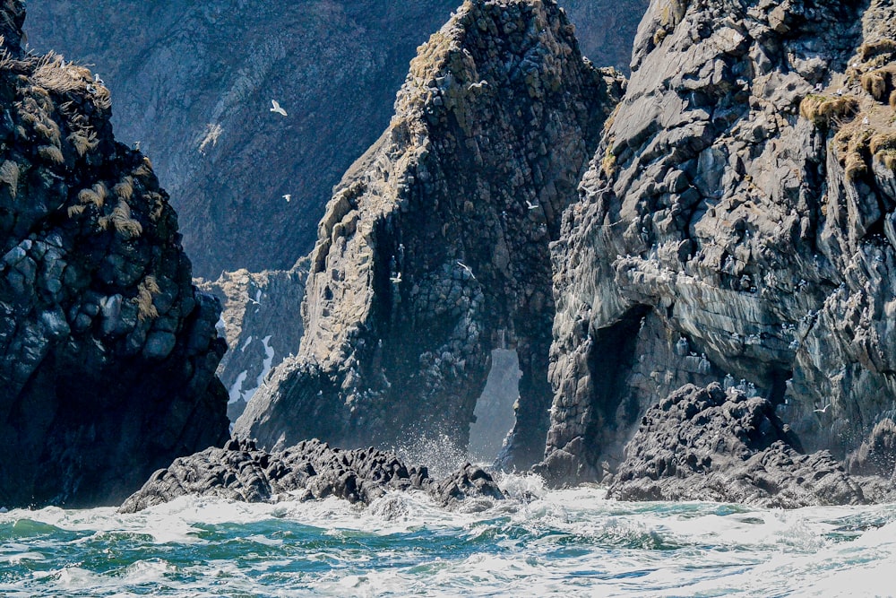
M 504 498 L 491 476 L 470 464 L 439 481 L 426 467 L 403 464 L 396 455 L 373 447 L 340 450 L 307 440 L 267 453 L 251 441 L 231 440 L 224 448 L 178 458 L 153 473 L 120 511 L 136 513 L 187 495 L 264 502 L 288 492 L 302 500 L 335 496 L 369 505 L 390 490 L 426 490 L 449 508 L 466 498 Z

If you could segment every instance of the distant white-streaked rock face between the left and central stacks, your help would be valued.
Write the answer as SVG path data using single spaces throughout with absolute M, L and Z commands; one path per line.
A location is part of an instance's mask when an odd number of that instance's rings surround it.
M 298 352 L 305 331 L 299 306 L 307 275 L 307 260 L 302 259 L 289 270 L 237 270 L 222 273 L 215 282 L 197 282 L 200 290 L 224 306 L 219 332 L 229 349 L 218 366 L 218 377 L 228 389 L 230 421 L 242 415 L 271 368 Z

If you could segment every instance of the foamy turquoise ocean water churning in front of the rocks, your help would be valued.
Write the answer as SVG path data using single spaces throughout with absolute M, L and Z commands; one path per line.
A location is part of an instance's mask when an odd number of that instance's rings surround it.
M 420 493 L 245 504 L 181 498 L 0 514 L 3 596 L 896 594 L 896 505 L 780 511 L 545 490 L 446 512 Z M 470 507 L 473 507 L 471 505 Z

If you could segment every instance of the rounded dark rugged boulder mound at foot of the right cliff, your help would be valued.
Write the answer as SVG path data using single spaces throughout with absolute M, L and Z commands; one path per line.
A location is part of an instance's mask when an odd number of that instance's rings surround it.
M 683 386 L 647 411 L 607 496 L 775 508 L 865 502 L 828 451 L 801 454 L 768 400 L 718 383 Z

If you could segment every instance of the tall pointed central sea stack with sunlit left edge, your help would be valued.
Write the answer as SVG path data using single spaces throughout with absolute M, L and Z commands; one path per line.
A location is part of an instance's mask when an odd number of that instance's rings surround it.
M 306 333 L 237 420 L 263 446 L 319 437 L 467 444 L 489 351 L 522 377 L 508 452 L 542 454 L 548 245 L 622 90 L 582 59 L 554 2 L 466 2 L 420 48 L 392 124 L 320 224 Z

